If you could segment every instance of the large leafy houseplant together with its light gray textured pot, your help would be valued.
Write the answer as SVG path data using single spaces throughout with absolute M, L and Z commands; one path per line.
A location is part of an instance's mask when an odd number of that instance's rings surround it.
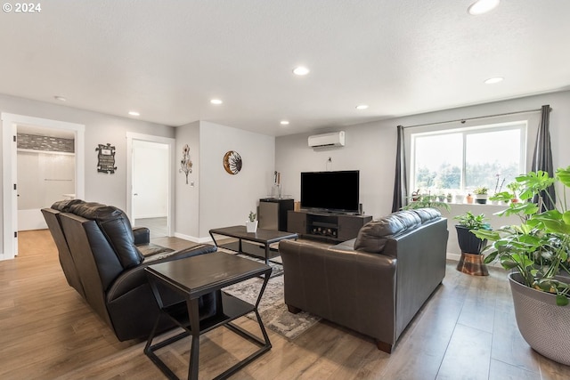
M 498 230 L 477 230 L 476 236 L 493 242 L 487 247 L 485 263 L 498 260 L 509 270 L 517 325 L 525 341 L 551 360 L 570 365 L 570 211 L 566 190 L 570 187 L 570 166 L 559 168 L 554 178 L 542 171 L 516 178 L 516 186 L 493 196 L 509 201 L 520 190 L 519 202 L 497 214 L 517 215 L 521 222 Z M 554 210 L 546 210 L 541 194 L 559 182 Z M 538 202 L 532 203 L 537 197 Z M 550 197 L 550 196 L 549 196 Z

